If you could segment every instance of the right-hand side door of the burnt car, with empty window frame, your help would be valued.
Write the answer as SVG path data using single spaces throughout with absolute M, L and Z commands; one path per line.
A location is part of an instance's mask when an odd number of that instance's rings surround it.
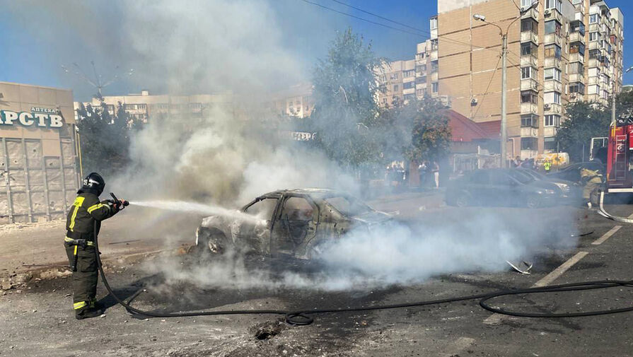
M 310 197 L 284 197 L 273 222 L 271 254 L 294 255 L 301 250 L 316 235 L 318 217 L 318 206 Z

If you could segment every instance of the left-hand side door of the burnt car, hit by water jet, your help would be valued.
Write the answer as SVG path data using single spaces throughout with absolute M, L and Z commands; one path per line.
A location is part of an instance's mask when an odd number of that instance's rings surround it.
M 279 197 L 257 197 L 242 209 L 256 219 L 236 219 L 231 233 L 233 242 L 245 252 L 255 251 L 270 254 L 270 229 Z

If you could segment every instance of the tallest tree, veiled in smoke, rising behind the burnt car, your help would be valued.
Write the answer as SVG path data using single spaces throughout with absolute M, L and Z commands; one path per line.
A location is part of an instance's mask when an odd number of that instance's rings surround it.
M 380 160 L 381 148 L 373 137 L 381 129 L 376 71 L 383 64 L 371 44 L 350 28 L 337 35 L 314 71 L 310 127 L 318 132 L 315 145 L 353 170 Z

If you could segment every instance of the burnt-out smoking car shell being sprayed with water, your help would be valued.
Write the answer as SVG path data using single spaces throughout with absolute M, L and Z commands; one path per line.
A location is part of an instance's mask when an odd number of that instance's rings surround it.
M 237 250 L 310 259 L 349 230 L 371 229 L 391 219 L 344 192 L 279 190 L 257 197 L 235 215 L 204 218 L 196 231 L 196 247 L 199 252 Z

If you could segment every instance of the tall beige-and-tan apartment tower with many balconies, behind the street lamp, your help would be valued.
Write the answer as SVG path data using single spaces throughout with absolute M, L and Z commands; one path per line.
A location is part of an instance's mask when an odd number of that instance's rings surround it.
M 557 149 L 554 136 L 569 100 L 606 105 L 621 90 L 623 16 L 605 1 L 513 2 L 438 1 L 436 86 L 460 114 L 475 122 L 499 120 L 499 28 L 508 29 L 507 152 L 531 158 Z

